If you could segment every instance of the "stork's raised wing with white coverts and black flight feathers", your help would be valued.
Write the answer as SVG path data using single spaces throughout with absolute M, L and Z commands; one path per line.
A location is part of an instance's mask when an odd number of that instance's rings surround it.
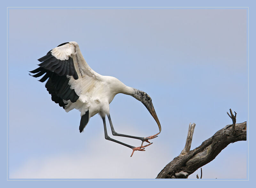
M 101 76 L 86 63 L 76 42 L 63 43 L 53 48 L 38 61 L 41 62 L 38 64 L 39 68 L 30 71 L 34 74 L 31 76 L 44 75 L 39 80 L 40 82 L 45 82 L 49 78 L 45 87 L 52 95 L 52 101 L 64 109 L 68 103 L 71 105 L 78 100 L 83 94 L 82 90 L 84 93 L 87 92 L 88 88 L 81 85 L 85 79 L 87 83 L 91 82 L 95 85 Z M 85 100 L 83 97 L 83 102 Z

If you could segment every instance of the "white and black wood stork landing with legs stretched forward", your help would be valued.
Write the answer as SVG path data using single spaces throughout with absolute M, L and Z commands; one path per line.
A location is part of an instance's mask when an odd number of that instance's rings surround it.
M 126 86 L 117 78 L 102 76 L 92 70 L 84 60 L 80 48 L 76 42 L 66 42 L 53 48 L 44 57 L 38 59 L 41 63 L 39 68 L 30 71 L 34 77 L 43 76 L 39 81 L 44 82 L 48 78 L 45 87 L 52 95 L 52 101 L 58 103 L 66 112 L 78 109 L 81 112 L 79 131 L 84 130 L 89 119 L 99 113 L 103 119 L 105 139 L 114 141 L 132 149 L 145 151 L 149 146 L 148 140 L 156 138 L 161 132 L 161 125 L 157 118 L 151 98 L 147 93 Z M 35 74 L 36 73 L 36 74 Z M 148 137 L 137 137 L 116 133 L 109 114 L 109 104 L 116 94 L 123 93 L 136 98 L 146 106 L 149 113 L 156 120 L 159 133 Z M 141 140 L 140 147 L 134 147 L 123 142 L 114 140 L 108 136 L 106 127 L 106 115 L 114 136 L 129 137 Z M 149 144 L 143 146 L 143 142 Z M 131 155 L 131 156 L 132 156 Z

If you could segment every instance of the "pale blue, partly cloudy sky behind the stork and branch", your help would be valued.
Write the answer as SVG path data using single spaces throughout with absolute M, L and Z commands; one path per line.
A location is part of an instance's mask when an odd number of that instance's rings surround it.
M 246 15 L 245 9 L 11 9 L 10 178 L 155 178 L 184 148 L 190 122 L 194 149 L 232 123 L 229 108 L 237 122 L 247 121 Z M 38 58 L 68 41 L 78 42 L 96 72 L 151 96 L 162 132 L 145 152 L 130 158 L 129 148 L 105 140 L 98 115 L 80 134 L 80 112 L 66 113 L 44 83 L 28 76 Z M 117 132 L 157 133 L 144 105 L 130 96 L 118 94 L 110 114 Z M 246 178 L 247 145 L 230 144 L 203 167 L 203 177 Z M 96 174 L 99 165 L 105 173 Z

